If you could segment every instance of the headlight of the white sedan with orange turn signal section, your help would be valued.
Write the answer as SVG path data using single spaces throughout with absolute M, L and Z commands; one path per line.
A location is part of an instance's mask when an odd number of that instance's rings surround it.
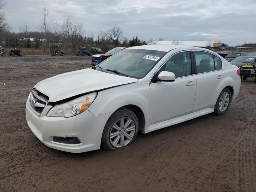
M 90 93 L 69 102 L 56 105 L 50 109 L 46 116 L 72 117 L 85 111 L 94 101 L 97 93 Z

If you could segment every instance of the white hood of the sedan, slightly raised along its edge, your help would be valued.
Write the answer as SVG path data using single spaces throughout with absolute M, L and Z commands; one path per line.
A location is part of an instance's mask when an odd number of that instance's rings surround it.
M 106 88 L 137 82 L 138 79 L 91 68 L 68 72 L 40 81 L 36 90 L 49 97 L 49 102 L 56 102 L 79 94 L 99 91 Z

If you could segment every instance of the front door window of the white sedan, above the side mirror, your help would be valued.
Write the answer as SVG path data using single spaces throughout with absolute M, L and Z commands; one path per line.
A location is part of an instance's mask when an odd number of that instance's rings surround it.
M 191 75 L 190 52 L 180 52 L 172 56 L 158 71 L 169 71 L 175 74 L 175 77 Z

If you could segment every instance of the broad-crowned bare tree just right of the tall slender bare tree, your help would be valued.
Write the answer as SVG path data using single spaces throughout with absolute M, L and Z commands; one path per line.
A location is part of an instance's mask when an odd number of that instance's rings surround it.
M 75 53 L 76 46 L 77 46 L 79 40 L 82 38 L 82 34 L 83 34 L 82 23 L 73 21 L 70 19 L 69 16 L 67 16 L 66 20 L 63 23 L 62 30 L 63 30 L 64 34 L 70 40 L 70 43 L 72 45 L 72 50 Z

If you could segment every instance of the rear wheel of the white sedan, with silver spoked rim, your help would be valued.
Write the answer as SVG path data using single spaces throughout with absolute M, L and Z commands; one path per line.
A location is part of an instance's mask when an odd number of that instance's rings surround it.
M 228 96 L 226 96 L 225 94 L 228 94 Z M 227 98 L 228 98 L 228 101 L 223 102 L 224 98 L 225 98 L 225 100 L 227 100 Z M 221 102 L 222 102 L 222 105 L 220 104 Z M 231 102 L 230 90 L 228 88 L 224 88 L 222 90 L 222 92 L 220 93 L 218 100 L 216 101 L 215 108 L 214 108 L 214 114 L 216 114 L 216 115 L 225 114 L 226 111 L 228 110 L 230 102 Z

